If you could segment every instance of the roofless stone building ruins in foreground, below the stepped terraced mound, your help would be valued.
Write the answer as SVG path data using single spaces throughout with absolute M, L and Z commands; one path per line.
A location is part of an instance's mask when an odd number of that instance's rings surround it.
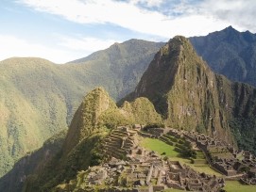
M 161 191 L 176 188 L 189 191 L 218 191 L 224 180 L 198 173 L 178 161 L 163 160 L 155 152 L 137 147 L 128 161 L 111 158 L 83 175 L 87 187 L 107 185 L 102 191 Z M 132 189 L 132 190 L 131 190 Z

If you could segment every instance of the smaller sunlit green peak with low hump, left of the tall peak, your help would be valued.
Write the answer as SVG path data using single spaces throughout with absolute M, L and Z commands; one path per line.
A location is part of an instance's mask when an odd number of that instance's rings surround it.
M 138 109 L 137 114 L 130 113 Z M 147 99 L 138 98 L 118 108 L 103 88 L 95 88 L 78 107 L 61 152 L 43 169 L 36 169 L 27 177 L 24 191 L 50 191 L 57 184 L 74 178 L 78 170 L 98 165 L 104 158 L 100 152 L 102 139 L 117 125 L 134 124 L 134 120 L 137 123 L 162 122 Z

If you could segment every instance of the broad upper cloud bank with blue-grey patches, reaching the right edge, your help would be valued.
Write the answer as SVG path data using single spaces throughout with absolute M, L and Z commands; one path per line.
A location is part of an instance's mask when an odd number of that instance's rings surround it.
M 171 38 L 207 35 L 228 25 L 256 30 L 254 0 L 20 0 L 79 24 L 116 24 L 132 31 Z M 170 2 L 170 7 L 166 7 Z M 141 8 L 138 4 L 158 9 Z M 196 5 L 196 6 L 195 6 Z M 166 9 L 168 9 L 168 14 Z M 165 12 L 163 11 L 165 10 Z

